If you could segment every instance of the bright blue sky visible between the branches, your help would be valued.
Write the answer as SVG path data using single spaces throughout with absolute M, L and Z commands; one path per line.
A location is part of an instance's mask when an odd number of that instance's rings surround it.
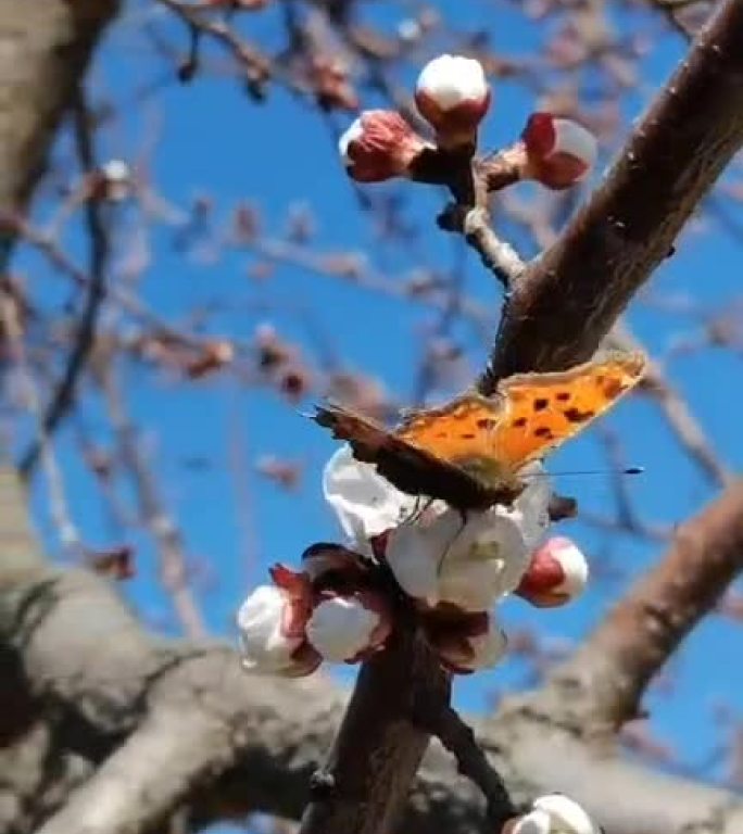
M 450 12 L 457 7 L 462 28 L 481 25 L 481 3 L 441 5 Z M 501 7 L 488 8 L 493 10 L 492 38 L 499 49 L 522 54 L 539 48 L 543 33 L 533 24 L 525 25 L 520 15 Z M 266 36 L 272 37 L 270 15 L 261 21 L 257 17 L 254 24 L 251 22 L 252 31 L 261 34 L 265 26 Z M 134 47 L 138 42 L 136 23 L 136 18 L 125 17 L 112 31 L 96 67 L 92 89 L 99 93 L 105 91 L 114 99 L 126 100 L 134 87 L 162 75 L 163 62 L 148 58 L 141 41 L 139 50 Z M 389 15 L 382 23 L 394 25 L 396 16 Z M 172 26 L 168 34 L 172 42 L 185 42 L 180 27 Z M 680 41 L 671 37 L 652 50 L 643 64 L 641 83 L 627 97 L 628 118 L 645 106 L 681 49 Z M 405 73 L 412 83 L 413 67 Z M 364 99 L 364 104 L 375 103 L 372 97 Z M 494 111 L 484 129 L 484 144 L 512 139 L 533 108 L 533 97 L 520 87 L 500 83 Z M 343 126 L 350 118 L 335 121 Z M 279 236 L 286 227 L 288 208 L 306 202 L 312 204 L 316 218 L 313 244 L 317 250 L 363 252 L 390 280 L 408 275 L 416 266 L 451 270 L 463 256 L 461 243 L 443 236 L 432 223 L 441 194 L 423 187 L 410 186 L 402 192 L 406 216 L 418 231 L 413 256 L 380 242 L 368 217 L 358 211 L 354 191 L 338 163 L 329 125 L 280 90 L 272 91 L 268 103 L 259 106 L 234 79 L 224 76 L 205 77 L 189 86 L 166 84 L 148 102 L 126 106 L 122 117 L 101 137 L 100 156 L 136 160 L 153 134 L 158 140 L 149 164 L 161 193 L 180 206 L 198 194 L 209 194 L 215 203 L 217 229 L 227 223 L 230 208 L 247 200 L 260 204 L 266 233 Z M 621 140 L 618 135 L 617 144 Z M 60 157 L 64 149 L 62 142 Z M 39 218 L 46 216 L 48 205 L 40 201 Z M 740 215 L 740 207 L 738 212 Z M 74 229 L 66 245 L 83 257 L 80 238 Z M 125 245 L 130 243 L 122 241 L 119 252 Z M 215 333 L 244 341 L 256 325 L 270 321 L 284 337 L 312 350 L 312 329 L 322 333 L 349 368 L 383 379 L 401 400 L 410 397 L 423 336 L 437 320 L 430 308 L 381 298 L 295 267 L 278 266 L 269 280 L 259 283 L 248 277 L 253 263 L 248 253 L 226 251 L 213 260 L 187 258 L 175 251 L 173 230 L 162 225 L 150 228 L 149 245 L 151 262 L 140 291 L 164 318 L 175 321 L 194 305 L 216 301 L 229 308 L 211 319 L 210 329 Z M 492 308 L 494 324 L 499 292 L 476 258 L 468 253 L 464 256 L 467 293 Z M 39 260 L 27 253 L 18 258 L 18 265 L 26 273 L 43 273 Z M 691 295 L 702 307 L 715 309 L 739 292 L 740 273 L 739 244 L 710 220 L 705 228 L 683 236 L 676 256 L 654 277 L 653 288 Z M 59 279 L 48 270 L 45 275 L 41 286 L 48 288 L 48 298 L 56 298 Z M 693 320 L 669 317 L 637 304 L 630 320 L 653 352 L 666 351 L 680 331 L 694 333 L 698 329 Z M 466 327 L 457 328 L 455 333 L 477 368 L 486 345 Z M 739 469 L 743 447 L 736 439 L 736 426 L 743 420 L 743 402 L 733 380 L 740 379 L 741 356 L 707 349 L 675 359 L 668 375 L 690 396 L 720 456 L 731 468 Z M 167 505 L 182 527 L 188 553 L 206 567 L 200 573 L 197 594 L 210 626 L 234 640 L 231 618 L 236 607 L 249 585 L 263 580 L 268 565 L 279 559 L 295 563 L 308 543 L 338 536 L 318 489 L 322 466 L 335 445 L 300 414 L 311 402 L 288 406 L 276 394 L 241 387 L 229 375 L 184 386 L 129 366 L 123 381 L 129 407 L 160 473 Z M 442 396 L 446 392 L 438 393 Z M 95 397 L 86 397 L 85 414 L 93 434 L 105 441 L 106 430 Z M 643 517 L 676 525 L 714 496 L 715 490 L 679 454 L 654 405 L 645 400 L 622 403 L 606 422 L 619 432 L 628 462 L 646 468 L 645 475 L 633 479 L 629 486 Z M 59 438 L 59 456 L 75 521 L 90 544 L 115 543 L 117 531 L 106 519 L 84 471 L 72 429 L 60 432 Z M 590 432 L 555 455 L 551 467 L 555 471 L 606 468 L 602 450 L 595 432 Z M 304 462 L 301 491 L 286 494 L 257 477 L 254 462 L 263 454 Z M 185 459 L 200 457 L 211 460 L 209 469 L 193 471 L 184 466 Z M 236 470 L 241 471 L 240 480 L 247 483 L 248 507 L 236 498 Z M 609 478 L 566 477 L 558 486 L 587 508 L 606 513 L 612 509 Z M 37 479 L 37 522 L 50 551 L 59 552 L 46 494 L 42 479 Z M 562 525 L 558 532 L 575 536 L 594 564 L 610 557 L 627 576 L 612 581 L 597 579 L 584 597 L 565 610 L 537 611 L 518 601 L 506 603 L 503 618 L 507 629 L 534 627 L 555 645 L 580 640 L 629 579 L 645 570 L 660 552 L 655 544 L 612 536 L 579 521 Z M 152 543 L 140 534 L 131 540 L 138 547 L 139 576 L 128 584 L 126 593 L 149 622 L 175 632 L 173 610 L 153 579 Z M 651 694 L 647 700 L 653 710 L 653 729 L 692 766 L 703 761 L 717 741 L 713 707 L 728 703 L 743 712 L 736 665 L 720 662 L 721 653 L 733 641 L 740 641 L 740 627 L 709 618 L 673 660 L 678 682 L 673 697 Z M 352 673 L 338 670 L 345 681 Z M 515 685 L 521 675 L 518 662 L 506 661 L 493 671 L 458 681 L 456 700 L 467 710 L 481 710 L 495 690 Z

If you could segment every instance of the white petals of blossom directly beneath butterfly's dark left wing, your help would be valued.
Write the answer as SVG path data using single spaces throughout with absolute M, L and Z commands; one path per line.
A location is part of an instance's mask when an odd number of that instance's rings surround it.
M 370 464 L 356 460 L 349 445 L 341 446 L 326 464 L 323 494 L 356 545 L 399 525 L 416 505 L 413 496 L 396 490 Z

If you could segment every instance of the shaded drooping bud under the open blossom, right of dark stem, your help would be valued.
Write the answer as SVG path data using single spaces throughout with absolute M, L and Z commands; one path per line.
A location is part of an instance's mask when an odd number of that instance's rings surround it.
M 427 612 L 423 623 L 428 643 L 452 672 L 469 674 L 495 666 L 505 654 L 506 635 L 486 611 L 462 614 L 444 606 Z

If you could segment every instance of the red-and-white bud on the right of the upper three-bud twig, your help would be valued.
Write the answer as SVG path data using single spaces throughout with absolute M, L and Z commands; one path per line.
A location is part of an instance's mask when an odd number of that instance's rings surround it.
M 521 134 L 527 161 L 524 179 L 536 179 L 554 190 L 583 179 L 599 153 L 593 134 L 569 118 L 532 113 Z

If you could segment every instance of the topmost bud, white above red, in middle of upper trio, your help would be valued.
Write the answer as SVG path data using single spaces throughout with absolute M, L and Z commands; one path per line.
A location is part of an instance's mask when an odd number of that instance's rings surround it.
M 477 128 L 490 106 L 490 87 L 479 61 L 440 55 L 418 76 L 415 103 L 433 127 L 441 148 L 475 144 Z

